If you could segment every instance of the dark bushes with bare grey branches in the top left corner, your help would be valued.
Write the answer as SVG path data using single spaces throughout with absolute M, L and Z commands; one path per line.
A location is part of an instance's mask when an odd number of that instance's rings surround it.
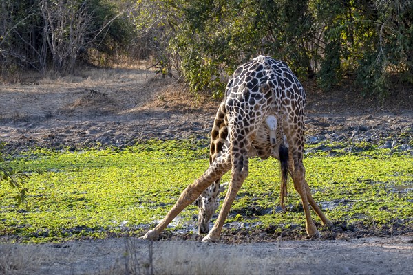
M 4 0 L 0 4 L 0 73 L 17 67 L 71 73 L 92 52 L 125 49 L 131 28 L 107 0 Z

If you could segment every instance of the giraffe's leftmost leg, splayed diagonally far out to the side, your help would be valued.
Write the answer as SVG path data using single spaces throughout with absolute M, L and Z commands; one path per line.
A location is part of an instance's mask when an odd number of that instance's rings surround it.
M 149 230 L 145 236 L 140 237 L 140 239 L 146 240 L 155 240 L 158 239 L 158 236 L 164 230 L 169 223 L 182 211 L 184 208 L 193 203 L 197 199 L 201 192 L 207 189 L 214 181 L 222 177 L 229 170 L 229 159 L 227 155 L 222 155 L 216 159 L 213 164 L 211 164 L 208 170 L 193 184 L 190 184 L 182 192 L 178 201 L 175 205 L 169 210 L 167 215 L 156 225 L 153 230 Z

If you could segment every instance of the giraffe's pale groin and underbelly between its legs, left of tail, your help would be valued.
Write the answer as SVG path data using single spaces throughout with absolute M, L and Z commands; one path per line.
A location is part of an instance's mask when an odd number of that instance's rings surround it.
M 249 156 L 260 157 L 261 159 L 268 159 L 271 155 L 275 156 L 276 153 L 274 152 L 277 152 L 280 141 L 277 120 L 273 115 L 268 115 L 257 130 Z

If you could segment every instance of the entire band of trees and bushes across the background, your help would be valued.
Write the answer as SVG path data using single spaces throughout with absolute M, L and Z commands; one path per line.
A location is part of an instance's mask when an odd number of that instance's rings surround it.
M 0 69 L 64 73 L 96 52 L 153 57 L 164 76 L 221 97 L 237 65 L 267 54 L 326 91 L 350 79 L 383 100 L 394 78 L 413 84 L 412 10 L 412 1 L 381 0 L 4 0 Z

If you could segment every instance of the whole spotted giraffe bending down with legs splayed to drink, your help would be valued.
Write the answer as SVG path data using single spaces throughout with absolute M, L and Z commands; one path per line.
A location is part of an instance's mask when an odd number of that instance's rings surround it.
M 310 206 L 323 225 L 332 222 L 321 212 L 305 179 L 304 107 L 306 94 L 286 63 L 269 56 L 257 56 L 238 67 L 226 85 L 211 131 L 209 168 L 184 189 L 167 215 L 142 239 L 157 239 L 160 232 L 189 204 L 199 207 L 202 241 L 217 242 L 238 190 L 248 176 L 248 159 L 279 159 L 282 170 L 280 192 L 284 208 L 288 174 L 301 197 L 308 236 L 319 237 Z M 231 169 L 231 181 L 213 228 L 209 220 L 218 208 L 222 192 L 220 179 Z

